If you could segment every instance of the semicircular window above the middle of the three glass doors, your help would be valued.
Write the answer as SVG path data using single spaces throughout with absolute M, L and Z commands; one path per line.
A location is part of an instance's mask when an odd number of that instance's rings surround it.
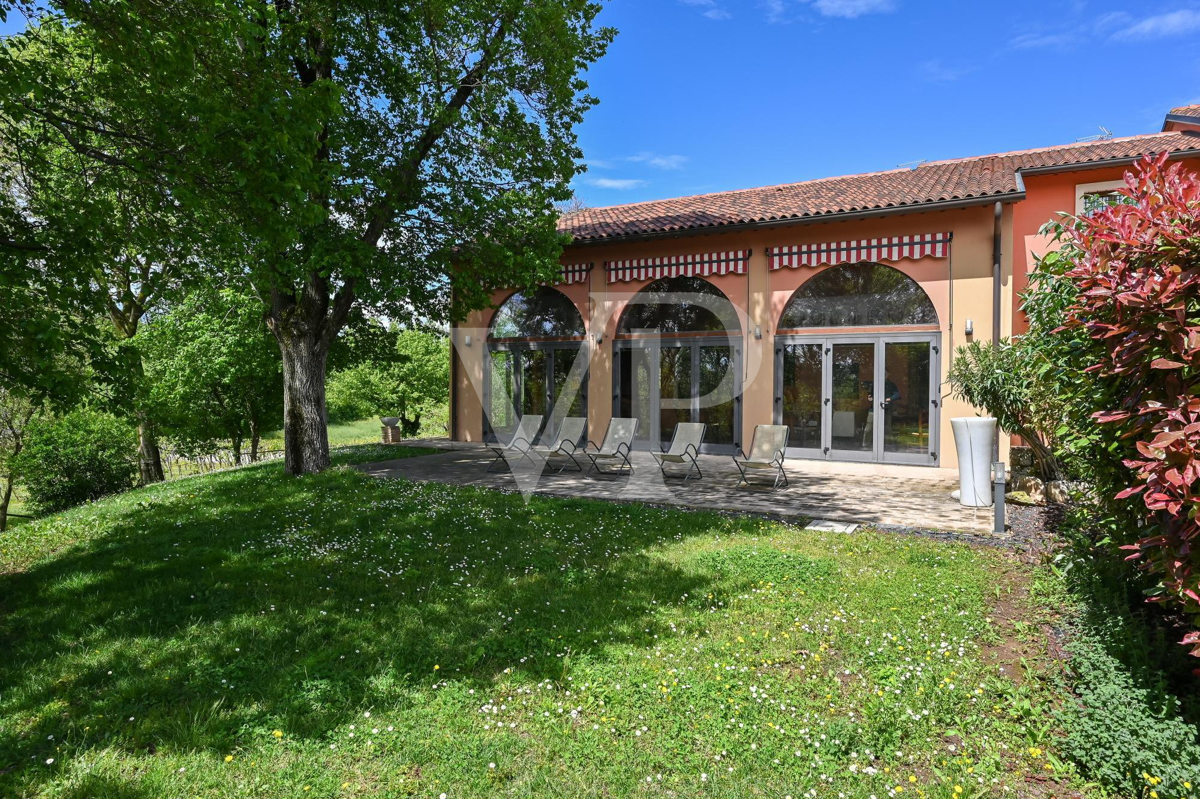
M 733 304 L 701 277 L 664 277 L 630 301 L 618 334 L 653 330 L 660 334 L 740 330 Z

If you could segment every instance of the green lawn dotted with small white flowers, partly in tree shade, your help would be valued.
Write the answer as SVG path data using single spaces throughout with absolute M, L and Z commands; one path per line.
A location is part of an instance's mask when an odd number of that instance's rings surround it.
M 0 795 L 1024 795 L 1073 777 L 988 665 L 1014 567 L 344 468 L 154 486 L 0 539 Z

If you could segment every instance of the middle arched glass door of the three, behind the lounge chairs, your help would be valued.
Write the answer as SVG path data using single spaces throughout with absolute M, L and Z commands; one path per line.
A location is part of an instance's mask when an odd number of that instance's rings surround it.
M 707 452 L 740 444 L 742 332 L 720 289 L 666 277 L 630 300 L 613 346 L 613 415 L 638 419 L 638 441 L 659 446 L 678 422 L 708 425 Z

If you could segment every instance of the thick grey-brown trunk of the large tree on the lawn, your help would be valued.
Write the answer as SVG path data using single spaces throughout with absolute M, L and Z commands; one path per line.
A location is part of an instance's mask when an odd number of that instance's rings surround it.
M 312 474 L 329 467 L 325 426 L 325 360 L 320 335 L 280 330 L 283 356 L 283 469 Z

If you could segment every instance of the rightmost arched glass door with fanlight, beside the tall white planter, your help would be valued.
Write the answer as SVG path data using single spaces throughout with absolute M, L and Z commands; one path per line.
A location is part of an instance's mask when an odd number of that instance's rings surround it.
M 936 464 L 937 330 L 929 296 L 890 266 L 835 266 L 797 289 L 775 338 L 788 455 Z

